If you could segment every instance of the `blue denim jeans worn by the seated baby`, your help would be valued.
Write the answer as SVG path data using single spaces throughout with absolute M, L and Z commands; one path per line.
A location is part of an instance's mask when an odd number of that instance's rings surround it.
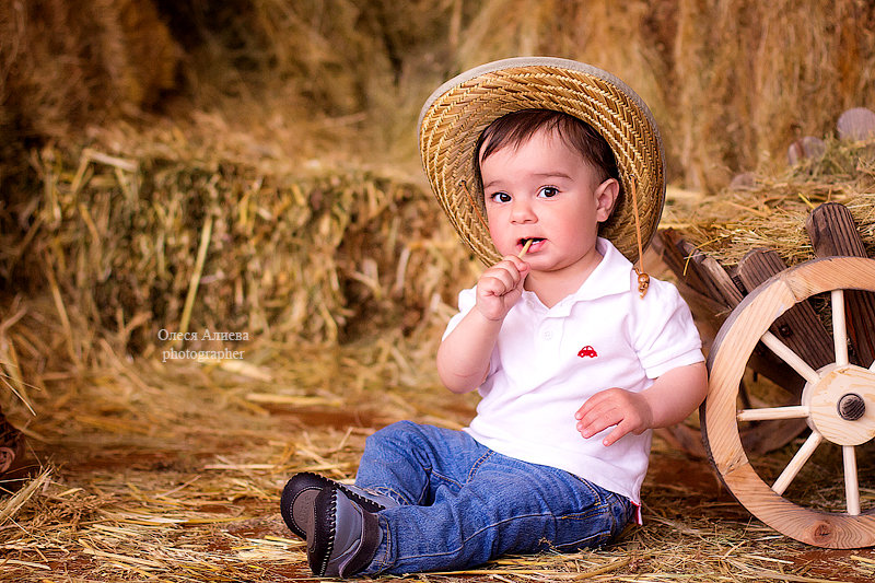
M 625 497 L 470 435 L 400 421 L 371 435 L 355 485 L 401 505 L 361 574 L 458 570 L 506 553 L 599 547 L 634 516 Z

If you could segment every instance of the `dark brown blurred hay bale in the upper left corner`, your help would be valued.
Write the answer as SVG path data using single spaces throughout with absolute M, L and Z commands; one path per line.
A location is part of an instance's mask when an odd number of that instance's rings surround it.
M 149 0 L 4 2 L 0 49 L 4 140 L 63 140 L 97 116 L 151 107 L 180 56 Z

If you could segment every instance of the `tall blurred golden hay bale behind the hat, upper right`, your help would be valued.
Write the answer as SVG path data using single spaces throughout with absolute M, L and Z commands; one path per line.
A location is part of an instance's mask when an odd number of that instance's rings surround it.
M 715 193 L 738 172 L 775 172 L 791 142 L 875 104 L 873 30 L 875 5 L 854 0 L 490 0 L 459 60 L 549 54 L 610 70 L 654 112 L 669 179 Z

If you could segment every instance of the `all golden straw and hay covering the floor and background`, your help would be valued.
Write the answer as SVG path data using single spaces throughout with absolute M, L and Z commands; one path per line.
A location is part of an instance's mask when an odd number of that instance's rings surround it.
M 408 139 L 421 97 L 447 71 L 536 51 L 604 62 L 669 120 L 668 175 L 709 193 L 731 172 L 782 164 L 790 139 L 831 131 L 848 101 L 871 105 L 875 88 L 875 37 L 844 25 L 871 22 L 875 9 L 851 1 L 678 11 L 378 0 L 328 14 L 319 2 L 232 0 L 206 28 L 174 11 L 174 27 L 202 32 L 202 43 L 173 40 L 154 2 L 74 4 L 0 9 L 3 119 L 14 121 L 0 209 L 13 296 L 2 305 L 3 366 L 13 386 L 38 389 L 27 403 L 37 415 L 7 387 L 0 400 L 44 465 L 0 498 L 0 579 L 22 583 L 58 579 L 50 572 L 312 580 L 305 544 L 278 511 L 289 476 L 351 480 L 366 438 L 394 421 L 468 424 L 476 395 L 447 395 L 433 355 L 459 282 L 480 267 L 436 217 Z M 607 42 L 618 37 L 629 42 Z M 789 49 L 789 37 L 802 40 Z M 824 60 L 839 54 L 849 55 L 841 67 Z M 738 62 L 754 63 L 756 80 L 740 91 Z M 163 90 L 179 118 L 145 105 Z M 756 175 L 749 190 L 675 200 L 673 222 L 726 265 L 761 244 L 798 261 L 810 254 L 800 228 L 809 203 L 840 200 L 872 254 L 871 156 L 860 155 L 866 144 L 853 155 L 833 145 L 786 175 Z M 158 331 L 184 322 L 248 331 L 233 345 L 242 363 L 162 362 Z M 768 475 L 791 456 L 751 463 Z M 409 579 L 875 580 L 872 549 L 789 540 L 721 490 L 705 462 L 660 439 L 651 459 L 644 525 L 614 545 Z M 861 456 L 861 475 L 872 462 Z M 840 468 L 826 453 L 812 464 L 788 495 L 842 512 Z M 861 498 L 871 511 L 875 490 Z

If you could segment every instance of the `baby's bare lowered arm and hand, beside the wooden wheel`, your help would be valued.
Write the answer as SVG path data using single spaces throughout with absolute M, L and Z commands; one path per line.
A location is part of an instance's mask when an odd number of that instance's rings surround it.
M 679 423 L 702 403 L 707 393 L 708 370 L 703 362 L 698 362 L 672 369 L 641 393 L 616 387 L 596 393 L 574 418 L 584 438 L 616 425 L 604 441 L 610 445 L 630 432 L 640 435 L 648 429 Z

